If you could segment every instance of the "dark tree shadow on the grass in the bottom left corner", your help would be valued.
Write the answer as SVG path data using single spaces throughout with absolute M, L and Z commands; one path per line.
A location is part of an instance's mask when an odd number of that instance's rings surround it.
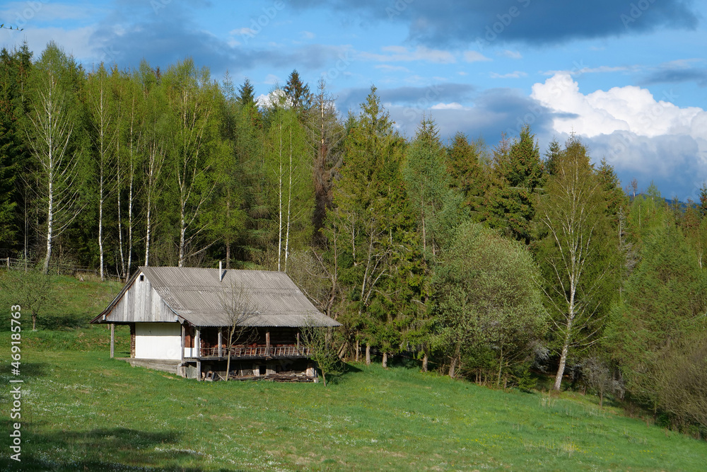
M 4 421 L 6 431 L 11 422 Z M 88 431 L 56 431 L 33 434 L 33 425 L 23 423 L 21 462 L 0 457 L 4 471 L 153 471 L 203 472 L 201 467 L 185 467 L 185 461 L 206 459 L 199 451 L 180 444 L 181 432 L 147 432 L 124 427 Z M 9 450 L 9 444 L 5 448 Z M 220 468 L 219 472 L 240 469 Z

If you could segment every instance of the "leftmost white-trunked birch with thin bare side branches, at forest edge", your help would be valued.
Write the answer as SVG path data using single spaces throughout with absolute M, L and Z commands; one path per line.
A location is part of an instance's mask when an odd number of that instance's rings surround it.
M 74 59 L 50 42 L 32 71 L 32 93 L 26 134 L 37 168 L 37 192 L 44 206 L 46 253 L 42 271 L 49 271 L 54 238 L 78 215 L 81 190 L 79 152 L 74 149 L 78 130 L 72 74 Z

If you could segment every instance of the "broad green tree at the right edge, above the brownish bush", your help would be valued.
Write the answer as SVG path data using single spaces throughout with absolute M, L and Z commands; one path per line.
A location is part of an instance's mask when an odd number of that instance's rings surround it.
M 706 279 L 682 231 L 670 221 L 646 235 L 640 265 L 612 312 L 605 346 L 634 398 L 661 405 L 661 359 L 681 340 L 703 333 Z

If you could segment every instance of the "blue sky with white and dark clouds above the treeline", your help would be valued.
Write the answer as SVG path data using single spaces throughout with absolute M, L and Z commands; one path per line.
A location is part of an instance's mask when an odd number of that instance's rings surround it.
M 490 146 L 529 122 L 542 151 L 571 132 L 624 185 L 696 199 L 707 180 L 707 2 L 689 0 L 10 1 L 0 46 L 54 40 L 101 61 L 185 57 L 257 95 L 293 69 L 342 113 L 371 85 L 411 137 L 431 113 Z

